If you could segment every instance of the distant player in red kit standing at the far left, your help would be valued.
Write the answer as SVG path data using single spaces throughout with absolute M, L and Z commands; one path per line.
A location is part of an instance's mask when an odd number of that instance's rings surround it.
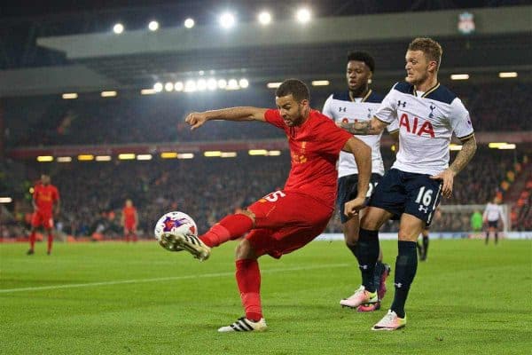
M 51 185 L 49 175 L 41 175 L 41 181 L 34 187 L 32 204 L 34 207 L 34 214 L 31 218 L 31 234 L 29 236 L 29 250 L 27 255 L 35 253 L 35 232 L 39 226 L 48 233 L 48 248 L 47 254 L 51 254 L 51 244 L 53 242 L 53 215 L 59 214 L 59 190 L 56 186 Z M 55 207 L 55 208 L 54 208 Z

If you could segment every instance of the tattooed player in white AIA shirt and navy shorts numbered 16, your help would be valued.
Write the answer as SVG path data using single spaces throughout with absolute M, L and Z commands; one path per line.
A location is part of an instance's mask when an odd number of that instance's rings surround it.
M 406 325 L 404 304 L 418 268 L 419 233 L 430 225 L 441 194 L 450 197 L 454 177 L 476 151 L 469 113 L 453 92 L 438 83 L 441 45 L 430 38 L 416 38 L 409 44 L 405 59 L 405 83 L 395 83 L 372 120 L 342 124 L 354 134 L 378 134 L 399 120 L 396 160 L 372 194 L 358 237 L 363 279 L 357 291 L 358 303 L 367 304 L 374 297 L 365 287 L 371 284 L 379 256 L 379 228 L 390 217 L 400 216 L 394 301 L 373 330 L 395 330 Z M 453 133 L 462 141 L 462 150 L 449 165 Z M 349 202 L 345 213 L 356 214 Z

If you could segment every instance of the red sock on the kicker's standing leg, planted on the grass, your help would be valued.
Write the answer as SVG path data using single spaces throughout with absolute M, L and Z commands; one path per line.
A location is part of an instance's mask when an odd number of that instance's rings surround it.
M 237 260 L 237 283 L 240 298 L 246 311 L 246 318 L 254 321 L 262 319 L 261 271 L 256 259 Z

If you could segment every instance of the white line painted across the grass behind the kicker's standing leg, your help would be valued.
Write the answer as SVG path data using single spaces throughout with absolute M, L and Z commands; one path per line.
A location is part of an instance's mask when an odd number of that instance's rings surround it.
M 325 264 L 317 266 L 301 266 L 293 267 L 287 269 L 273 269 L 273 270 L 263 270 L 262 273 L 277 273 L 277 272 L 295 272 L 301 270 L 314 270 L 314 269 L 327 269 L 333 267 L 346 267 L 348 264 Z M 234 272 L 215 272 L 215 273 L 204 273 L 200 275 L 186 275 L 186 276 L 173 276 L 165 278 L 155 278 L 155 279 L 134 279 L 134 280 L 121 280 L 121 281 L 103 281 L 103 282 L 89 282 L 89 283 L 74 283 L 66 285 L 54 285 L 54 286 L 41 286 L 35 288 L 7 288 L 0 289 L 0 294 L 8 294 L 13 292 L 24 292 L 24 291 L 43 291 L 48 289 L 59 289 L 59 288 L 90 288 L 93 286 L 109 286 L 109 285 L 122 285 L 127 283 L 143 283 L 143 282 L 159 282 L 159 281 L 169 281 L 169 280 L 187 280 L 187 279 L 197 279 L 197 278 L 215 278 L 220 276 L 232 276 Z

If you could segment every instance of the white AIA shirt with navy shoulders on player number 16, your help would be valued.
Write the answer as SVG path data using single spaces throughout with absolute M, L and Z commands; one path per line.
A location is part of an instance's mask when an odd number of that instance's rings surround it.
M 473 124 L 462 101 L 437 83 L 425 93 L 410 83 L 395 83 L 375 114 L 399 123 L 399 152 L 392 169 L 436 175 L 449 167 L 450 138 L 473 136 Z

